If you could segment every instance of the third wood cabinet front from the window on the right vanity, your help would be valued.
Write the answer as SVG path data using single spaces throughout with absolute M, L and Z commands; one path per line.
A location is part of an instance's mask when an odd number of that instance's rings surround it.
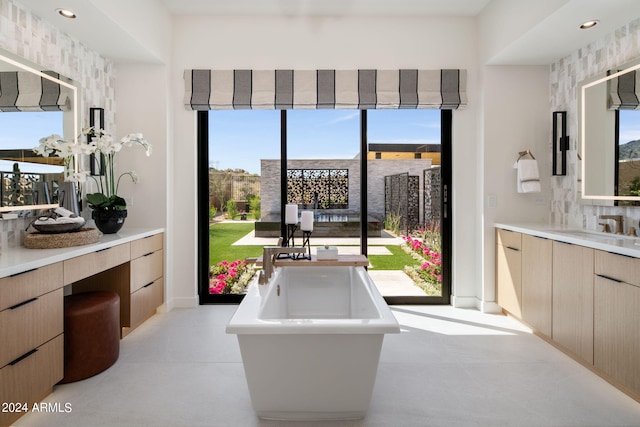
M 553 242 L 551 338 L 593 364 L 594 249 Z

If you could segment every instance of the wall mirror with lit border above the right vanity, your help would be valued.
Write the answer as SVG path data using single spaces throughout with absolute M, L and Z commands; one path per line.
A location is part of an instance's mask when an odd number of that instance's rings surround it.
M 638 83 L 640 60 L 579 85 L 578 180 L 584 204 L 640 205 Z

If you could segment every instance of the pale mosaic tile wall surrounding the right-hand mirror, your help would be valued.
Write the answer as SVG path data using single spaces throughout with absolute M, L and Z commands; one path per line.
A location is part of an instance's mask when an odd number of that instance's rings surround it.
M 577 202 L 578 85 L 618 65 L 640 57 L 640 19 L 606 35 L 571 55 L 551 64 L 551 111 L 567 112 L 567 132 L 571 149 L 567 156 L 567 176 L 551 179 L 551 220 L 554 224 L 596 229 L 597 217 L 623 215 L 628 225 L 639 228 L 640 207 L 585 206 Z M 549 115 L 551 120 L 551 115 Z M 551 147 L 549 147 L 551 150 Z

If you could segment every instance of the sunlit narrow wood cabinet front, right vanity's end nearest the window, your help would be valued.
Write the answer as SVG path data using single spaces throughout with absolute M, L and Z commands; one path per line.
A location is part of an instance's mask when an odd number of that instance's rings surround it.
M 503 310 L 522 317 L 522 234 L 496 230 L 497 302 Z

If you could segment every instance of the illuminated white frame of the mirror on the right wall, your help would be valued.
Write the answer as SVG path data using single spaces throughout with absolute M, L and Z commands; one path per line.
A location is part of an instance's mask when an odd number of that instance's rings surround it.
M 586 79 L 584 81 L 582 81 L 579 84 L 580 90 L 578 92 L 578 107 L 579 107 L 579 119 L 580 119 L 580 126 L 579 126 L 579 130 L 580 130 L 580 134 L 579 134 L 579 138 L 580 138 L 580 151 L 582 152 L 582 180 L 580 182 L 580 191 L 581 191 L 581 195 L 580 198 L 581 199 L 587 199 L 587 200 L 603 200 L 603 201 L 608 201 L 608 202 L 612 202 L 612 201 L 616 201 L 616 200 L 627 200 L 627 201 L 640 201 L 640 196 L 608 196 L 608 195 L 594 195 L 594 194 L 587 194 L 586 193 L 586 168 L 587 168 L 587 160 L 585 159 L 585 153 L 586 153 L 586 138 L 585 138 L 585 134 L 586 134 L 586 108 L 585 108 L 585 96 L 586 96 L 586 90 L 589 89 L 590 87 L 596 86 L 598 84 L 601 83 L 606 83 L 609 80 L 612 80 L 618 76 L 621 76 L 623 74 L 626 74 L 628 72 L 631 71 L 635 71 L 640 69 L 640 60 L 635 60 L 635 61 L 631 61 L 628 62 L 626 64 L 623 64 L 620 67 L 614 67 L 614 68 L 622 68 L 620 71 L 617 71 L 615 73 L 611 73 L 608 75 L 605 75 L 604 77 L 592 77 L 590 79 Z M 614 136 L 612 135 L 612 138 L 614 138 Z M 587 202 L 588 203 L 588 202 Z M 607 205 L 610 205 L 610 203 L 606 203 Z

